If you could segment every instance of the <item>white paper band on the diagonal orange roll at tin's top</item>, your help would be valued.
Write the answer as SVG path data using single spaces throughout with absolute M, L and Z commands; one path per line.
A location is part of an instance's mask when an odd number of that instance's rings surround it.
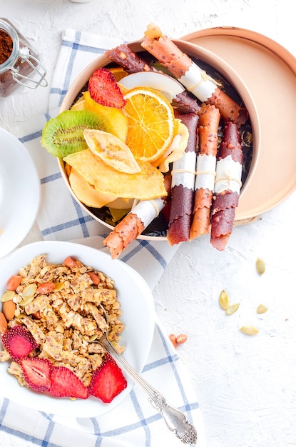
M 215 89 L 217 89 L 217 85 L 213 79 L 194 62 L 178 81 L 200 99 L 200 101 L 207 101 L 213 95 Z

